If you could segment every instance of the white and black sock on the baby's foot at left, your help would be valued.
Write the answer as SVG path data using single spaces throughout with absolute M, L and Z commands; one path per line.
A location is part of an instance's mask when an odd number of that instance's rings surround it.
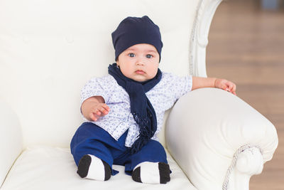
M 78 164 L 77 174 L 82 178 L 107 181 L 111 177 L 111 167 L 93 155 L 84 155 Z

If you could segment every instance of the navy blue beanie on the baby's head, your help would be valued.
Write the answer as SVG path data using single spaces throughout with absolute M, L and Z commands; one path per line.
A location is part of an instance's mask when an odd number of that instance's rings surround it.
M 127 48 L 139 43 L 153 45 L 160 56 L 163 43 L 160 37 L 160 29 L 148 16 L 127 17 L 111 33 L 112 43 L 114 44 L 115 60 Z M 159 60 L 160 62 L 160 60 Z

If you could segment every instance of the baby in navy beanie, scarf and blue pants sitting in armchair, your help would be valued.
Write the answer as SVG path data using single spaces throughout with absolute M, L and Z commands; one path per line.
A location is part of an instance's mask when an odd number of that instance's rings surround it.
M 71 142 L 77 173 L 106 181 L 118 173 L 112 165 L 119 164 L 134 181 L 165 184 L 171 171 L 157 137 L 165 110 L 190 90 L 214 87 L 235 95 L 236 85 L 160 71 L 163 43 L 148 16 L 127 17 L 111 36 L 116 63 L 109 65 L 109 75 L 92 78 L 82 89 L 85 122 Z

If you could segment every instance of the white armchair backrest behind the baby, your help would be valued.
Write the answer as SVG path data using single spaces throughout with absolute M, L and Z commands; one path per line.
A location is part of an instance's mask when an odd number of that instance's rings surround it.
M 69 146 L 82 122 L 80 90 L 114 63 L 111 32 L 126 16 L 148 15 L 160 27 L 161 70 L 206 75 L 220 1 L 0 1 L 0 98 L 19 117 L 24 146 Z

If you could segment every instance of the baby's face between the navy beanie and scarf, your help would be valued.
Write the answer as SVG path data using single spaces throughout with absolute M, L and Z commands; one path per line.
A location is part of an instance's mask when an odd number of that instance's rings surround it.
M 154 46 L 139 43 L 123 51 L 116 64 L 127 78 L 143 82 L 157 74 L 159 53 Z

